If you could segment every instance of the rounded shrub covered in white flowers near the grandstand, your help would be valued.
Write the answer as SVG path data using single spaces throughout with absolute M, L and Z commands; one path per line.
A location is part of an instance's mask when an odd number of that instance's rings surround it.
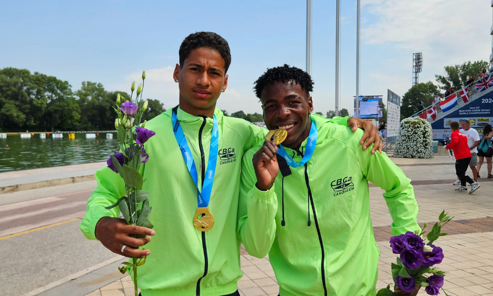
M 406 118 L 400 122 L 393 157 L 433 158 L 432 141 L 428 121 L 419 117 Z

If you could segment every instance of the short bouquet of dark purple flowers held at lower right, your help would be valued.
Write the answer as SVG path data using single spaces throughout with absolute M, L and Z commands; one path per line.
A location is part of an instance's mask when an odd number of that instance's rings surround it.
M 452 217 L 453 218 L 453 217 Z M 442 233 L 442 227 L 452 220 L 450 216 L 443 211 L 438 217 L 439 222 L 435 223 L 426 235 L 428 240 L 424 242 L 422 236 L 426 231 L 424 229 L 427 223 L 424 223 L 423 229 L 411 231 L 399 236 L 390 238 L 390 247 L 392 253 L 399 254 L 397 262 L 392 263 L 392 278 L 396 286 L 396 291 L 402 290 L 405 293 L 411 293 L 417 287 L 425 287 L 428 295 L 438 295 L 443 286 L 445 271 L 439 270 L 434 265 L 440 264 L 443 260 L 443 251 L 440 247 L 433 245 L 440 236 L 447 235 Z M 442 289 L 446 296 L 448 294 Z M 380 289 L 377 296 L 397 296 L 390 290 L 390 285 L 385 289 Z

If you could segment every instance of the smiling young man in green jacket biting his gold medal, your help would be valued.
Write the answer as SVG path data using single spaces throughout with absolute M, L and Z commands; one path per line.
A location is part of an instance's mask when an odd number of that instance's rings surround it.
M 376 295 L 380 252 L 368 181 L 386 190 L 392 235 L 399 235 L 420 229 L 411 180 L 385 153 L 359 149 L 357 133 L 312 114 L 305 71 L 268 69 L 254 89 L 267 127 L 287 137 L 279 146 L 257 144 L 243 158 L 238 233 L 246 251 L 269 252 L 281 296 Z M 258 217 L 257 200 L 278 207 Z

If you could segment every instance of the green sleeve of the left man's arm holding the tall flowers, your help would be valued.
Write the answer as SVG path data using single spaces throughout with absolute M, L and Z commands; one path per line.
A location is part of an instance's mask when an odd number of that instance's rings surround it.
M 118 218 L 120 216 L 118 207 L 111 210 L 107 210 L 105 207 L 113 205 L 120 197 L 127 194 L 123 179 L 108 167 L 96 172 L 96 181 L 98 187 L 91 193 L 91 197 L 87 201 L 86 214 L 80 223 L 80 230 L 84 236 L 92 240 L 97 239 L 96 224 L 101 218 Z

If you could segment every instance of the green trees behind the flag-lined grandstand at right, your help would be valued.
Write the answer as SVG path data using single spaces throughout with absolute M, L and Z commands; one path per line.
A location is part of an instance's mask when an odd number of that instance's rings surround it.
M 413 85 L 402 96 L 401 119 L 413 115 L 413 107 L 418 106 L 419 102 L 423 102 L 424 107 L 431 106 L 431 104 L 433 104 L 435 94 L 439 94 L 443 99 L 443 93 L 448 87 L 452 87 L 453 91 L 458 91 L 467 85 L 469 76 L 472 76 L 474 79 L 478 74 L 478 71 L 488 69 L 489 66 L 490 63 L 486 61 L 468 61 L 461 65 L 446 66 L 444 67 L 444 75 L 435 75 L 437 84 L 427 81 Z

